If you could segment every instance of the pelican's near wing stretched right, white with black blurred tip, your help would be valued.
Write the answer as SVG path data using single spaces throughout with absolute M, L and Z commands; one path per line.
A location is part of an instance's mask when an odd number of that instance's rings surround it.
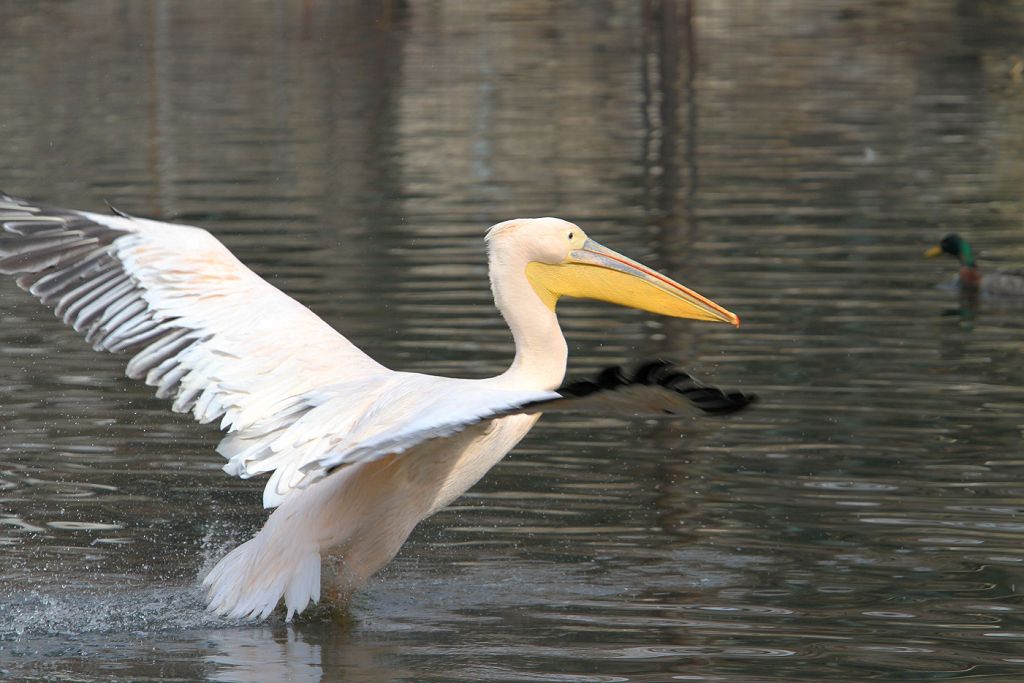
M 424 377 L 430 382 L 439 379 Z M 403 414 L 409 419 L 395 423 L 392 428 L 362 434 L 357 439 L 339 440 L 324 449 L 322 455 L 298 466 L 296 476 L 299 478 L 294 485 L 305 485 L 339 467 L 402 453 L 424 441 L 451 436 L 480 422 L 512 415 L 728 415 L 757 400 L 757 395 L 752 393 L 723 391 L 703 384 L 667 360 L 645 364 L 631 375 L 617 367 L 608 368 L 594 380 L 571 382 L 555 391 L 503 390 L 484 382 L 466 380 L 445 382 L 462 384 L 459 387 L 424 387 L 429 391 L 416 389 L 421 399 L 403 407 Z M 453 396 L 458 396 L 458 401 L 453 400 Z M 326 410 L 330 410 L 330 400 L 324 402 Z M 379 410 L 388 408 L 380 405 Z M 307 478 L 302 479 L 302 474 Z

